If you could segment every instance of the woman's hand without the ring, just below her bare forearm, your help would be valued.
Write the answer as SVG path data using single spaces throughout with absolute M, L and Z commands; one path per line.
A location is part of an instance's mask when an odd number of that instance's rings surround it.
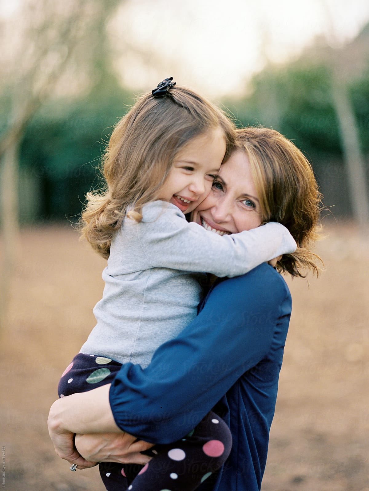
M 152 446 L 153 443 L 138 440 L 129 433 L 92 433 L 75 436 L 75 447 L 86 462 L 144 465 L 151 457 L 140 452 Z

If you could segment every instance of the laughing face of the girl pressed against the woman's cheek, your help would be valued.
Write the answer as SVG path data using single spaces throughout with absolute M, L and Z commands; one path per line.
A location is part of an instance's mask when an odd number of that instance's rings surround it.
M 183 213 L 194 210 L 209 194 L 225 150 L 221 128 L 192 138 L 176 155 L 157 199 L 169 201 Z

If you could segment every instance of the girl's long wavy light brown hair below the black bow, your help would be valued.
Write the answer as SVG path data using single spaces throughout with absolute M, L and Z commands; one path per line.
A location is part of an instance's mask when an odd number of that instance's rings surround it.
M 234 149 L 235 128 L 221 109 L 178 85 L 164 97 L 148 93 L 139 98 L 110 137 L 102 160 L 104 189 L 86 194 L 82 236 L 109 257 L 113 233 L 126 213 L 140 221 L 143 205 L 155 199 L 177 153 L 192 138 L 218 127 L 227 144 L 225 161 Z

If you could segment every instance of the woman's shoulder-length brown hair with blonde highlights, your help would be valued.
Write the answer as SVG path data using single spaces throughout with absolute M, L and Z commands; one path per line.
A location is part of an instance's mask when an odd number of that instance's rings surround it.
M 246 153 L 259 196 L 262 221 L 277 221 L 288 228 L 298 246 L 285 254 L 277 270 L 301 276 L 317 275 L 321 261 L 311 252 L 318 238 L 321 198 L 311 164 L 287 138 L 269 128 L 237 130 L 236 148 Z

